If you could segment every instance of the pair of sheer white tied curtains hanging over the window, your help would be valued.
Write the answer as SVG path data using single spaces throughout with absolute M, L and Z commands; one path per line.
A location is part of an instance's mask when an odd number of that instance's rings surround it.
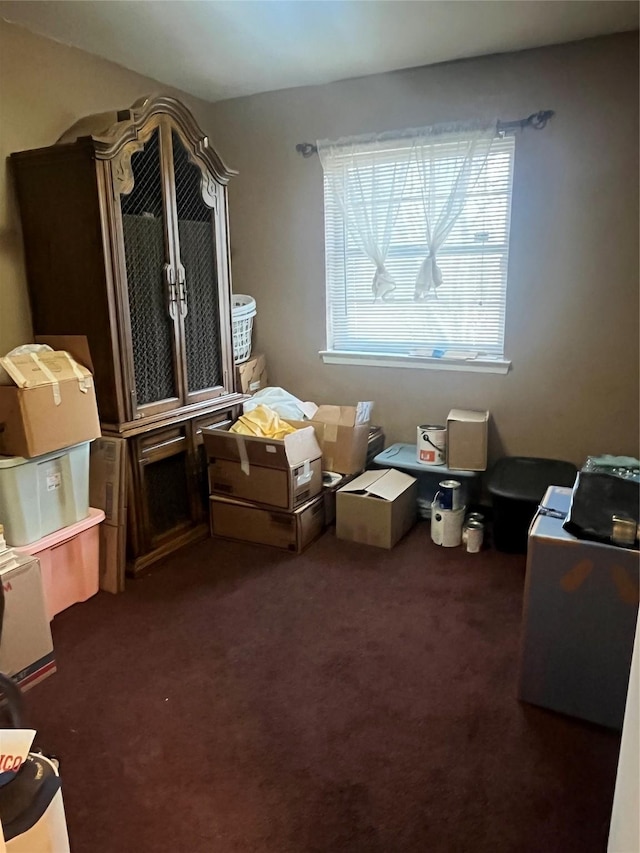
M 419 187 L 418 221 L 427 255 L 415 283 L 414 298 L 424 299 L 442 283 L 438 250 L 463 212 L 496 136 L 491 125 L 409 129 L 321 140 L 318 154 L 328 190 L 342 212 L 348 233 L 375 267 L 374 299 L 393 298 L 396 282 L 387 255 L 407 194 Z M 421 203 L 420 203 L 421 202 Z

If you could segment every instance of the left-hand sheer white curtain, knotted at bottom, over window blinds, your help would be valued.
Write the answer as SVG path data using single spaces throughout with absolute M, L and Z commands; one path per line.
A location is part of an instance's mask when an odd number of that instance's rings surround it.
M 393 229 L 410 168 L 411 150 L 382 142 L 382 137 L 357 137 L 318 142 L 325 188 L 333 193 L 345 225 L 375 266 L 374 299 L 387 300 L 396 288 L 386 267 Z M 330 168 L 328 168 L 330 164 Z

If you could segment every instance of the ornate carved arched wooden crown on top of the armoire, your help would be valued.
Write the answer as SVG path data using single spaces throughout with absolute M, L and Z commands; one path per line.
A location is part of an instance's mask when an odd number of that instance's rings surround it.
M 80 119 L 58 139 L 57 144 L 90 137 L 96 157 L 99 160 L 111 160 L 118 157 L 125 146 L 128 146 L 128 152 L 136 150 L 136 143 L 141 143 L 139 136 L 146 123 L 152 117 L 162 114 L 170 116 L 180 126 L 196 156 L 203 160 L 219 183 L 227 184 L 229 178 L 238 174 L 235 169 L 230 169 L 209 145 L 208 137 L 187 107 L 168 95 L 140 98 L 127 110 L 98 113 Z M 139 147 L 142 147 L 142 144 Z

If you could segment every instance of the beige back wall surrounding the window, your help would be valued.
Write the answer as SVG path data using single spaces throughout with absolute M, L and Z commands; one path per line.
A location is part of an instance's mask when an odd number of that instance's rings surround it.
M 272 382 L 376 401 L 390 441 L 488 408 L 492 451 L 583 461 L 638 450 L 638 56 L 613 36 L 222 102 L 208 128 L 230 184 L 234 289 L 258 302 Z M 519 136 L 507 376 L 325 365 L 322 174 L 295 144 L 538 109 Z

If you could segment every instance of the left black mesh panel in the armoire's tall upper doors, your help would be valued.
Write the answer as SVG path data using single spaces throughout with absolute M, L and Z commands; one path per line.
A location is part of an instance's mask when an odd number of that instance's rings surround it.
M 131 158 L 134 185 L 120 196 L 138 405 L 176 397 L 173 321 L 164 281 L 164 222 L 156 131 Z

